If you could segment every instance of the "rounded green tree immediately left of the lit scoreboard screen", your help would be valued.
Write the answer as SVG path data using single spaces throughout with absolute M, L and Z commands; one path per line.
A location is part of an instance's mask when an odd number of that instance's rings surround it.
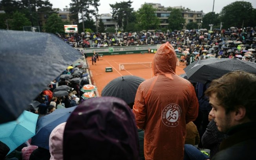
M 60 19 L 60 17 L 53 13 L 46 21 L 44 25 L 44 29 L 48 33 L 64 33 L 64 23 Z

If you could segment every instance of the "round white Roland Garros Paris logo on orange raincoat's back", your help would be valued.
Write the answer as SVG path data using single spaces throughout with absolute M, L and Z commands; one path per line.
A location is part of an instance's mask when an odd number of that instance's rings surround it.
M 176 127 L 179 124 L 181 107 L 177 104 L 168 104 L 162 111 L 162 122 L 168 127 Z

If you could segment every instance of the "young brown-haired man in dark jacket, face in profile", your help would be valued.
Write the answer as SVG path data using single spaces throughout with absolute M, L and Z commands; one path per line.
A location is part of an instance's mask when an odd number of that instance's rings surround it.
M 213 80 L 205 95 L 218 130 L 229 135 L 211 160 L 254 159 L 256 152 L 256 75 L 234 71 Z

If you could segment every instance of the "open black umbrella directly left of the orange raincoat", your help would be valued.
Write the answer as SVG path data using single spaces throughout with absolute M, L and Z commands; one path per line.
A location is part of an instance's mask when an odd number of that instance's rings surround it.
M 120 76 L 110 81 L 102 90 L 101 96 L 114 96 L 127 104 L 134 102 L 139 84 L 144 79 L 138 76 Z

